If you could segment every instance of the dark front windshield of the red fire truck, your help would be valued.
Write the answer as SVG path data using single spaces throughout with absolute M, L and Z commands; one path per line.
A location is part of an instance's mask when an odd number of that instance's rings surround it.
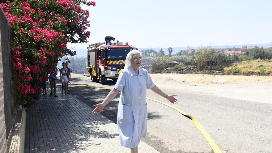
M 132 50 L 132 48 L 110 49 L 106 57 L 108 60 L 125 60 L 126 55 Z

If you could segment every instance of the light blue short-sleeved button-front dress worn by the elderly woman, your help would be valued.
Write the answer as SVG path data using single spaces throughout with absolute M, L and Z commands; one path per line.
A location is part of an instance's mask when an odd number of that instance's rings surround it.
M 132 66 L 124 69 L 114 86 L 121 91 L 117 125 L 123 147 L 138 147 L 141 137 L 147 135 L 147 88 L 154 87 L 147 70 L 140 68 L 138 76 Z M 130 106 L 124 105 L 130 104 Z

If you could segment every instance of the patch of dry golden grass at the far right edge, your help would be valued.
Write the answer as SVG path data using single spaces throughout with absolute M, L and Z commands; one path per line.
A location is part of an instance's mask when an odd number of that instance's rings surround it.
M 272 74 L 272 59 L 270 60 L 253 60 L 233 63 L 231 66 L 224 68 L 227 74 Z

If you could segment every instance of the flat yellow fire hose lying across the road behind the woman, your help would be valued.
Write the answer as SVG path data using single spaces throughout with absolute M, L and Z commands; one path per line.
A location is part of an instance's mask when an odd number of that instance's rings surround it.
M 99 89 L 99 90 L 111 90 L 111 89 L 105 89 L 105 88 L 97 88 L 97 87 L 91 87 L 89 86 L 88 83 L 71 83 L 71 84 L 75 84 L 75 85 L 86 85 L 86 87 L 88 88 L 93 88 L 93 89 Z M 161 102 L 159 100 L 155 100 L 152 98 L 148 98 L 148 100 L 152 100 L 155 102 L 158 102 L 160 104 L 164 104 L 172 109 L 175 109 L 177 112 L 181 113 L 182 115 L 184 115 L 185 117 L 188 117 L 189 119 L 191 119 L 193 121 L 193 124 L 198 128 L 198 130 L 201 132 L 201 134 L 206 138 L 207 142 L 210 144 L 210 147 L 212 148 L 212 150 L 215 153 L 222 153 L 221 150 L 219 149 L 219 147 L 216 145 L 216 143 L 214 142 L 214 140 L 210 137 L 210 135 L 207 133 L 207 131 L 202 127 L 202 125 L 198 122 L 197 119 L 195 119 L 194 117 L 192 117 L 191 115 L 188 115 L 186 113 L 184 113 L 183 111 L 181 111 L 180 109 L 176 108 L 175 106 L 172 106 L 170 104 L 166 104 L 164 102 Z

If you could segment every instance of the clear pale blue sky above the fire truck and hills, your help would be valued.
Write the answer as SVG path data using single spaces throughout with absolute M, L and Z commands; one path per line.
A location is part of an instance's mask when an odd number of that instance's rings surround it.
M 137 48 L 265 44 L 272 42 L 269 0 L 96 0 L 89 9 L 86 49 L 105 36 Z

